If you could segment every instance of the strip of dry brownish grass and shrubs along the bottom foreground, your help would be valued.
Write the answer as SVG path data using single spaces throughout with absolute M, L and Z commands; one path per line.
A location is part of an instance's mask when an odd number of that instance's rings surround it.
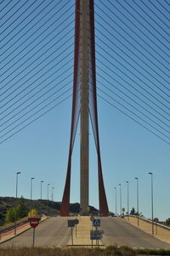
M 135 249 L 130 247 L 110 246 L 106 248 L 43 248 L 43 247 L 8 247 L 0 248 L 0 256 L 135 256 L 135 255 L 170 255 L 170 250 Z

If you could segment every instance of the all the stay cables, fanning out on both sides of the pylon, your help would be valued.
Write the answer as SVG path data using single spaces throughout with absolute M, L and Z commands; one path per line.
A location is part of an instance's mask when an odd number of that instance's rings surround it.
M 1 1 L 0 143 L 71 97 L 73 2 Z M 99 98 L 169 145 L 170 4 L 94 3 Z

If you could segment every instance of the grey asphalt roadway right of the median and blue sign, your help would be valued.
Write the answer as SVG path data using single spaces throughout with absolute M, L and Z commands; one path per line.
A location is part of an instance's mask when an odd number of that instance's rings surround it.
M 167 248 L 170 244 L 161 242 L 153 236 L 139 230 L 137 227 L 128 224 L 126 221 L 113 217 L 101 219 L 101 230 L 105 231 L 102 242 L 105 246 L 127 245 L 133 248 Z

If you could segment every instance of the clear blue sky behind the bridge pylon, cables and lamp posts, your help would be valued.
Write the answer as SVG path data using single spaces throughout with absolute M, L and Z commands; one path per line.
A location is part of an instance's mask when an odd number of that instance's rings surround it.
M 38 7 L 40 3 L 42 4 Z M 114 1 L 115 7 L 111 4 L 113 3 L 111 0 L 106 0 L 105 5 L 100 0 L 96 0 L 94 3 L 98 87 L 117 101 L 113 101 L 101 91 L 98 91 L 99 95 L 170 143 L 170 139 L 167 138 L 170 137 L 170 129 L 168 127 L 170 123 L 168 121 L 170 119 L 170 104 L 168 103 L 170 83 L 168 75 L 169 3 L 158 0 L 154 2 L 155 6 L 153 6 L 151 4 L 153 2 L 149 0 L 118 0 Z M 136 3 L 140 4 L 140 8 Z M 14 6 L 14 4 L 16 5 Z M 56 4 L 58 5 L 55 7 Z M 71 94 L 71 91 L 68 91 L 60 96 L 58 100 L 54 100 L 72 87 L 73 5 L 73 0 L 57 2 L 49 0 L 44 2 L 40 0 L 36 2 L 33 0 L 29 2 L 14 0 L 12 3 L 9 3 L 9 1 L 1 3 L 0 11 L 3 18 L 1 19 L 0 37 L 2 54 L 0 71 L 0 142 L 3 142 L 3 139 L 8 138 L 9 135 L 14 134 L 27 123 L 39 117 L 42 112 L 47 111 Z M 13 6 L 14 8 L 11 9 Z M 47 8 L 44 9 L 46 6 Z M 51 9 L 52 11 L 48 13 Z M 138 11 L 138 14 L 134 9 Z M 25 10 L 26 12 L 24 12 Z M 39 14 L 41 10 L 42 12 Z M 30 15 L 27 17 L 28 14 Z M 45 14 L 47 15 L 43 17 Z M 13 16 L 10 17 L 11 15 Z M 33 18 L 34 20 L 31 20 Z M 42 20 L 40 20 L 41 18 Z M 51 20 L 48 20 L 49 18 Z M 3 22 L 5 23 L 3 24 Z M 24 28 L 24 26 L 26 27 Z M 13 29 L 14 31 L 12 31 Z M 28 31 L 29 29 L 30 31 Z M 11 33 L 9 33 L 10 31 Z M 26 33 L 26 31 L 28 32 Z M 32 35 L 34 31 L 35 33 Z M 50 32 L 51 34 L 48 36 Z M 47 38 L 45 38 L 46 36 Z M 31 44 L 29 45 L 29 43 Z M 50 49 L 48 50 L 48 48 Z M 23 51 L 21 52 L 22 49 Z M 49 56 L 50 54 L 51 56 Z M 37 60 L 38 57 L 39 59 Z M 22 59 L 20 60 L 20 58 Z M 28 60 L 29 58 L 30 60 Z M 50 63 L 48 64 L 48 62 Z M 48 71 L 50 68 L 51 70 Z M 47 73 L 45 74 L 46 71 Z M 44 81 L 45 79 L 46 81 Z M 66 85 L 67 83 L 68 85 Z M 101 83 L 111 89 L 112 92 L 103 87 Z M 131 85 L 137 88 L 139 92 L 132 88 Z M 43 86 L 46 87 L 38 93 Z M 61 88 L 63 86 L 65 87 Z M 116 88 L 113 88 L 113 86 Z M 48 89 L 53 87 L 54 89 L 48 92 Z M 34 90 L 31 91 L 31 88 L 34 88 Z M 54 94 L 59 88 L 61 88 L 60 91 Z M 118 91 L 117 88 L 121 89 L 124 94 Z M 127 92 L 127 89 L 132 91 L 133 94 L 129 91 Z M 20 95 L 18 95 L 19 93 Z M 29 94 L 25 95 L 26 93 Z M 37 99 L 40 95 L 42 95 L 42 98 Z M 50 99 L 37 106 L 35 110 L 27 113 L 33 106 L 45 100 L 49 95 L 52 95 Z M 136 98 L 135 95 L 139 98 Z M 31 96 L 32 98 L 30 99 Z M 129 106 L 119 96 L 132 105 Z M 131 100 L 127 96 L 131 97 Z M 20 97 L 23 98 L 20 99 Z M 20 101 L 12 105 L 19 99 Z M 139 103 L 140 106 L 132 99 Z M 25 100 L 27 101 L 25 102 Z M 33 100 L 37 101 L 32 103 Z M 35 116 L 20 124 L 20 122 L 40 110 L 51 100 L 54 100 L 51 105 L 48 105 Z M 144 121 L 150 123 L 152 127 L 139 119 L 139 117 L 134 116 L 132 112 L 124 109 L 118 102 L 135 112 Z M 23 104 L 20 105 L 21 103 Z M 26 105 L 29 106 L 23 110 Z M 15 109 L 17 106 L 18 109 Z M 119 183 L 122 184 L 122 207 L 127 208 L 126 180 L 129 181 L 129 206 L 130 208 L 136 208 L 136 180 L 134 177 L 139 177 L 139 211 L 145 217 L 150 218 L 150 175 L 148 172 L 153 172 L 154 216 L 159 219 L 170 218 L 170 206 L 168 203 L 170 195 L 170 145 L 167 145 L 154 134 L 141 127 L 139 123 L 134 122 L 100 98 L 98 98 L 98 107 L 102 166 L 110 210 L 115 211 L 114 186 L 116 186 L 117 210 L 118 212 L 120 211 Z M 134 107 L 142 111 L 147 117 L 136 111 Z M 21 110 L 22 112 L 18 113 Z M 23 114 L 25 115 L 22 117 Z M 5 117 L 6 115 L 7 117 Z M 14 115 L 16 116 L 14 117 Z M 20 120 L 14 122 L 19 117 Z M 148 117 L 155 122 L 152 122 Z M 5 121 L 7 122 L 3 123 Z M 12 124 L 12 122 L 14 123 Z M 11 126 L 7 127 L 9 124 Z M 20 126 L 15 128 L 18 124 Z M 71 98 L 1 143 L 0 195 L 15 196 L 15 173 L 20 171 L 22 174 L 19 177 L 19 196 L 30 197 L 30 179 L 34 177 L 33 198 L 40 198 L 40 181 L 44 180 L 42 197 L 44 199 L 47 198 L 47 184 L 49 183 L 50 194 L 51 188 L 54 186 L 54 200 L 60 202 L 65 185 L 70 127 Z M 3 130 L 3 128 L 6 129 Z M 12 128 L 14 130 L 9 131 Z M 8 134 L 5 134 L 7 132 Z M 71 202 L 79 202 L 79 134 L 78 127 L 72 158 Z M 97 157 L 92 130 L 90 134 L 89 202 L 90 205 L 98 208 Z

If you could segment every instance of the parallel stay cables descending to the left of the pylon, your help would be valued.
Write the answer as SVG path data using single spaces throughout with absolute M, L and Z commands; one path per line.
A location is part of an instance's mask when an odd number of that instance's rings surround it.
M 70 1 L 2 4 L 0 144 L 71 98 L 74 46 Z

